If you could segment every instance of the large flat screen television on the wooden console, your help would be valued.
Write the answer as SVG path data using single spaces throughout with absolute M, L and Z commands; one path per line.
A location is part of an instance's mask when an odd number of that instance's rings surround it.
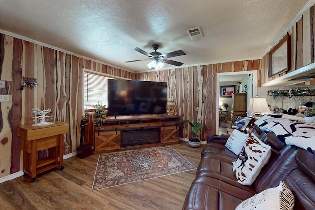
M 108 80 L 108 116 L 164 114 L 167 82 Z

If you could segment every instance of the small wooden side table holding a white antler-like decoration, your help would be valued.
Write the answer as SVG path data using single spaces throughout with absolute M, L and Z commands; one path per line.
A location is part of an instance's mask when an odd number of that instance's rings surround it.
M 32 182 L 36 175 L 56 166 L 63 170 L 63 134 L 69 132 L 67 122 L 55 121 L 53 125 L 35 127 L 19 125 L 17 136 L 21 137 L 23 150 L 23 172 L 29 174 Z M 45 157 L 38 158 L 38 151 L 48 150 Z

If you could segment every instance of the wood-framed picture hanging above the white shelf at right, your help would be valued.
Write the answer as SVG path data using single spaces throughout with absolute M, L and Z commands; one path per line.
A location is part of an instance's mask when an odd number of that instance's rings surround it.
M 280 42 L 269 51 L 268 77 L 291 69 L 291 38 L 286 34 Z

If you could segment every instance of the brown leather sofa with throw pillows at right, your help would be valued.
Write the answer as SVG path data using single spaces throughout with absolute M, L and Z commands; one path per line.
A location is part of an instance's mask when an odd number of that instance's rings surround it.
M 225 147 L 229 135 L 211 135 L 201 153 L 183 210 L 234 210 L 253 195 L 277 187 L 281 180 L 294 195 L 294 210 L 315 210 L 315 155 L 285 145 L 274 133 L 265 133 L 256 127 L 253 130 L 272 147 L 271 157 L 255 182 L 251 186 L 237 182 L 232 170 L 237 155 Z

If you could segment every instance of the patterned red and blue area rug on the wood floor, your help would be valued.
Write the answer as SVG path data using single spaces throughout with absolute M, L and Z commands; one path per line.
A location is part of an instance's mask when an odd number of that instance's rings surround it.
M 99 155 L 92 191 L 196 169 L 171 147 Z

